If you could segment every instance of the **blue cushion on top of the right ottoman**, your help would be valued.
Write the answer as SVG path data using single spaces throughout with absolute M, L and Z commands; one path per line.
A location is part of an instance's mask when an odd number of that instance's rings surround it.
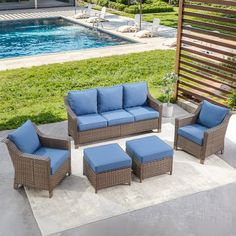
M 173 149 L 156 136 L 126 142 L 126 152 L 142 164 L 173 157 Z

